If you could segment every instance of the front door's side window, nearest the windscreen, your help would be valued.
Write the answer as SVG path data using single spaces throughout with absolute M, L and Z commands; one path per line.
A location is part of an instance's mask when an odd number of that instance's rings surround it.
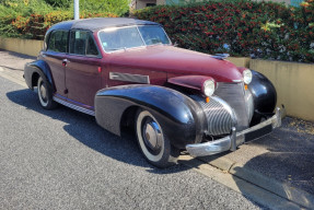
M 71 31 L 70 54 L 98 56 L 93 35 L 86 31 Z

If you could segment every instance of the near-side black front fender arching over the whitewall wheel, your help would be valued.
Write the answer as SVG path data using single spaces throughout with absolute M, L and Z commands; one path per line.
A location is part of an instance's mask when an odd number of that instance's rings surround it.
M 206 120 L 200 106 L 186 95 L 162 86 L 124 85 L 98 91 L 96 121 L 120 136 L 121 116 L 132 106 L 151 112 L 176 148 L 201 141 Z

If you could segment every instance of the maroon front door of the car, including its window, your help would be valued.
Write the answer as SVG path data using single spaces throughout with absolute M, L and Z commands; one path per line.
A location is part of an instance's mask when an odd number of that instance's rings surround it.
M 101 54 L 92 32 L 70 32 L 70 50 L 66 56 L 68 101 L 94 109 L 94 97 L 101 89 Z

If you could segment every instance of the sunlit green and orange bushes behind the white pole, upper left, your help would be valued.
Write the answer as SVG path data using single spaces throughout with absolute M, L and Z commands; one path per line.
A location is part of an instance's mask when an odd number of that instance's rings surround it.
M 0 1 L 0 36 L 43 39 L 53 24 L 73 19 L 72 2 L 73 0 Z M 80 8 L 81 19 L 115 18 L 128 11 L 128 0 L 80 0 L 81 3 L 86 5 Z M 100 7 L 101 4 L 105 8 Z

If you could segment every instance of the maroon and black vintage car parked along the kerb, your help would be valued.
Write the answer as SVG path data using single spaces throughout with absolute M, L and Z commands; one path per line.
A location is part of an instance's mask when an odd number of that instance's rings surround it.
M 133 128 L 144 158 L 166 167 L 182 150 L 234 151 L 281 125 L 269 80 L 225 57 L 175 47 L 158 23 L 86 19 L 51 26 L 24 78 L 46 109 L 93 115 L 118 136 Z

